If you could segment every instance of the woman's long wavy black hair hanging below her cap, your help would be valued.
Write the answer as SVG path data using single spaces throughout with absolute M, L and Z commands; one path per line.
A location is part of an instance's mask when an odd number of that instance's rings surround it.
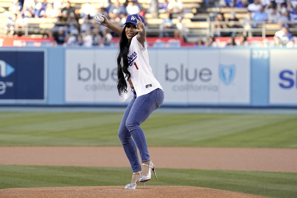
M 121 39 L 119 42 L 119 52 L 118 52 L 118 94 L 122 95 L 123 92 L 127 93 L 127 82 L 125 78 L 128 76 L 127 79 L 130 78 L 131 74 L 128 71 L 129 63 L 128 63 L 128 53 L 129 53 L 129 48 L 131 44 L 131 40 L 128 41 L 127 36 L 126 36 L 126 26 L 124 26 L 123 32 L 120 35 Z M 124 74 L 123 74 L 124 72 Z

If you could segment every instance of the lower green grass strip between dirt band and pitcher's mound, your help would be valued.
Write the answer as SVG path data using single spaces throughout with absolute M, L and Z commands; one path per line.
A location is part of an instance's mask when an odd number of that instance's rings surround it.
M 197 186 L 275 198 L 297 195 L 297 173 L 157 169 L 147 185 Z M 130 168 L 0 165 L 0 189 L 12 187 L 124 186 Z M 119 179 L 121 178 L 121 179 Z

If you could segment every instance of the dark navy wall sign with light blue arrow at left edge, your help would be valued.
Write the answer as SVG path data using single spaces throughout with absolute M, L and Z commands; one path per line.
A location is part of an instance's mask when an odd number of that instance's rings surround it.
M 0 51 L 0 100 L 44 100 L 43 51 Z

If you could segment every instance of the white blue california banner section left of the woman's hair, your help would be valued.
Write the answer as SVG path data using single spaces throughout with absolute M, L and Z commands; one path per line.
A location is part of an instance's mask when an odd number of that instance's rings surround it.
M 65 101 L 118 103 L 117 49 L 66 49 Z

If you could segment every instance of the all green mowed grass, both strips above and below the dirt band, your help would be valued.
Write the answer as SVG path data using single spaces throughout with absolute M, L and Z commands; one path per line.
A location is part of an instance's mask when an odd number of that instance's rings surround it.
M 120 146 L 122 113 L 0 112 L 1 146 Z M 149 146 L 297 148 L 297 115 L 153 113 L 141 125 Z M 1 151 L 1 147 L 0 147 Z M 129 168 L 0 165 L 0 189 L 109 186 Z M 297 197 L 297 173 L 157 169 L 148 185 L 199 186 Z M 123 178 L 118 181 L 116 178 Z

